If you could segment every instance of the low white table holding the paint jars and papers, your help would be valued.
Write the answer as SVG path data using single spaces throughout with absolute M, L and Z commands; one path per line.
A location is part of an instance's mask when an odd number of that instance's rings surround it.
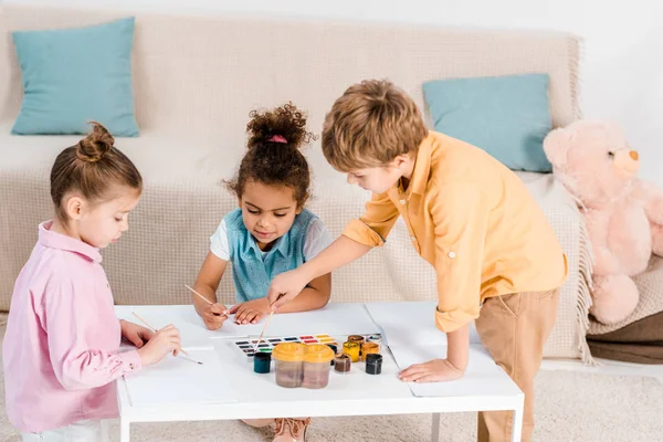
M 149 308 L 154 308 L 156 313 L 159 306 Z M 335 312 L 341 313 L 343 305 L 337 305 Z M 351 324 L 348 327 L 351 330 Z M 303 329 L 299 333 L 325 332 Z M 485 379 L 485 385 L 488 386 L 485 391 L 472 388 L 471 380 L 460 380 L 455 382 L 466 382 L 466 392 L 463 392 L 463 388 L 459 389 L 462 383 L 456 383 L 453 396 L 417 397 L 407 383 L 398 379 L 400 369 L 391 352 L 382 351 L 385 359 L 381 375 L 367 375 L 362 364 L 356 364 L 347 375 L 332 371 L 329 385 L 325 389 L 285 389 L 276 386 L 273 367 L 269 375 L 254 373 L 253 365 L 232 347 L 232 340 L 234 339 L 211 339 L 210 344 L 221 360 L 219 376 L 225 377 L 234 386 L 235 401 L 141 404 L 131 400 L 127 381 L 120 379 L 117 386 L 120 441 L 129 441 L 129 427 L 133 422 L 432 413 L 431 440 L 436 442 L 440 413 L 493 410 L 514 411 L 512 441 L 520 440 L 524 394 L 502 370 L 497 375 L 491 375 L 491 379 Z M 146 373 L 149 376 L 149 371 Z M 134 385 L 139 380 L 134 379 Z M 172 383 L 196 381 L 196 376 L 172 379 Z

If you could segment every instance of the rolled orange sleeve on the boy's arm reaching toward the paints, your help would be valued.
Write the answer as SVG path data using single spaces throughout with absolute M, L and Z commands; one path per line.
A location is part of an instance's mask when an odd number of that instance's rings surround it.
M 373 193 L 364 215 L 350 221 L 343 234 L 371 248 L 383 245 L 399 214 L 387 192 Z

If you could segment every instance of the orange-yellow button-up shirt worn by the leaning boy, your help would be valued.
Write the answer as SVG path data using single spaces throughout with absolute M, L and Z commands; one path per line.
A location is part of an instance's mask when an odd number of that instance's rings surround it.
M 430 131 L 407 190 L 373 194 L 344 235 L 385 243 L 402 215 L 417 252 L 435 267 L 435 324 L 453 332 L 491 296 L 554 290 L 567 276 L 555 231 L 523 181 L 484 150 Z

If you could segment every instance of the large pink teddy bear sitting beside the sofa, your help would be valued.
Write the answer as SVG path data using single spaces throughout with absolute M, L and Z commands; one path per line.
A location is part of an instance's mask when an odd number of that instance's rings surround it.
M 615 124 L 577 120 L 550 131 L 544 150 L 585 214 L 594 257 L 590 313 L 619 323 L 640 298 L 631 276 L 652 252 L 663 256 L 663 192 L 636 178 L 639 155 Z

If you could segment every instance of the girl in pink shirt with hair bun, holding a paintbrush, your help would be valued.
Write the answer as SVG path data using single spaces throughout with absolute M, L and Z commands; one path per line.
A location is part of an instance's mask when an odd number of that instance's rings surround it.
M 143 179 L 99 124 L 51 170 L 52 221 L 19 274 L 2 348 L 7 414 L 23 441 L 95 441 L 117 417 L 115 380 L 180 349 L 169 325 L 156 334 L 118 320 L 99 249 L 119 240 Z M 124 337 L 136 349 L 118 352 Z

